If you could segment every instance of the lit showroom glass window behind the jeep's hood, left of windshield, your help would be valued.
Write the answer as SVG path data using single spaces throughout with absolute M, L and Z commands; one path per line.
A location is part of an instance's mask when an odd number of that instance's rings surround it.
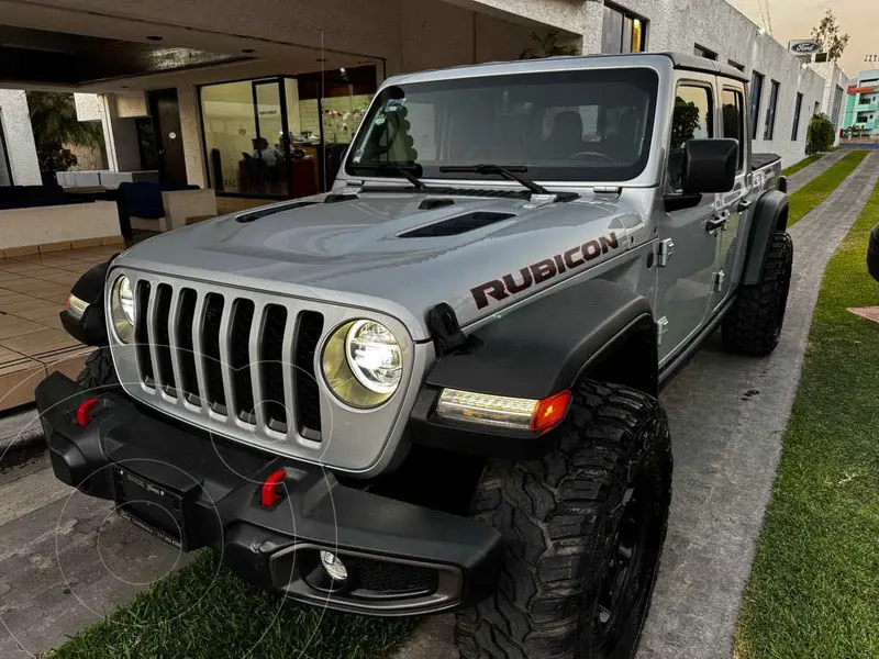
M 278 198 L 329 189 L 375 91 L 374 66 L 201 87 L 211 187 Z

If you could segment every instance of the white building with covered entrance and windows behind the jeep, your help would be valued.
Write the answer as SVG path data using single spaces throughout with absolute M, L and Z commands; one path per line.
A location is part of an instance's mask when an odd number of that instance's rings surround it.
M 76 92 L 79 119 L 102 122 L 108 168 L 221 196 L 327 189 L 387 76 L 543 55 L 532 33 L 556 31 L 583 54 L 680 51 L 735 66 L 752 80 L 754 148 L 785 165 L 804 157 L 812 114 L 843 111 L 838 67 L 803 66 L 725 0 L 0 0 L 0 16 L 3 48 L 21 51 L 0 53 L 0 86 Z M 22 54 L 35 64 L 16 68 Z M 78 78 L 58 69 L 62 55 Z M 4 93 L 19 94 L 20 121 L 23 92 L 0 91 L 0 108 Z M 5 150 L 13 182 L 32 181 L 33 138 Z

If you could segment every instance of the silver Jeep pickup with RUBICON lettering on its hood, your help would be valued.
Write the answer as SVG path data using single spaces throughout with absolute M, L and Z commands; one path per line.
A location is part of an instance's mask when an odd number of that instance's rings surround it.
M 330 193 L 147 239 L 62 320 L 56 476 L 242 578 L 460 655 L 630 657 L 671 493 L 661 384 L 778 344 L 780 160 L 679 54 L 403 75 Z M 705 411 L 709 413 L 709 411 Z

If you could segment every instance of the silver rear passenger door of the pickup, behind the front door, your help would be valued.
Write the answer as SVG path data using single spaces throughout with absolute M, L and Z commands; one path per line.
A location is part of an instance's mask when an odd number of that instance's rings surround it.
M 738 169 L 735 186 L 725 194 L 717 194 L 716 210 L 726 223 L 717 233 L 717 258 L 714 261 L 711 313 L 713 314 L 730 297 L 734 283 L 742 271 L 745 255 L 744 237 L 747 227 L 743 224 L 742 211 L 748 203 L 748 164 L 750 154 L 747 133 L 745 133 L 745 91 L 742 82 L 720 78 L 721 108 L 717 121 L 723 137 L 738 141 Z

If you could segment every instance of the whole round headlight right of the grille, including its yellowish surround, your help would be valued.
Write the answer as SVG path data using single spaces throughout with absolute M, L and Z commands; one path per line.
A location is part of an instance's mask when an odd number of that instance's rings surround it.
M 403 350 L 397 337 L 376 321 L 352 321 L 326 342 L 323 372 L 330 389 L 356 407 L 375 407 L 400 386 Z

